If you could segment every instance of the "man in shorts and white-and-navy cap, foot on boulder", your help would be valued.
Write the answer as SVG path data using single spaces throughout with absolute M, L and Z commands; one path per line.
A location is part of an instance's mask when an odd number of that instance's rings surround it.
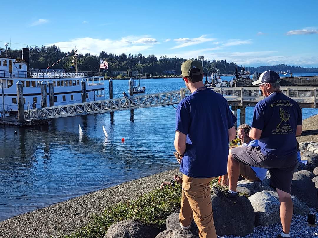
M 257 147 L 237 147 L 228 158 L 229 190 L 213 191 L 228 201 L 236 202 L 239 162 L 267 168 L 271 174 L 269 185 L 276 188 L 280 199 L 280 217 L 283 231 L 277 237 L 289 237 L 293 216 L 290 197 L 292 179 L 297 171 L 296 136 L 301 135 L 301 109 L 297 102 L 280 91 L 280 76 L 272 71 L 263 72 L 253 84 L 259 84 L 266 98 L 254 108 L 249 136 L 259 141 Z

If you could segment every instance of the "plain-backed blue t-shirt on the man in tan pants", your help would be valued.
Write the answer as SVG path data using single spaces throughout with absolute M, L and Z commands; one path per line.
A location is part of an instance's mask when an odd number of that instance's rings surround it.
M 180 172 L 194 178 L 226 174 L 228 129 L 235 122 L 226 99 L 212 90 L 184 98 L 176 109 L 176 131 L 187 135 Z

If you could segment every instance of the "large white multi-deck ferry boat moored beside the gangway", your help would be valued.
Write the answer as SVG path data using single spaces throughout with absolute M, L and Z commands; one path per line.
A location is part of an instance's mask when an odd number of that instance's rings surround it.
M 4 108 L 6 112 L 17 111 L 17 82 L 23 84 L 24 109 L 35 103 L 41 108 L 41 87 L 44 80 L 53 81 L 54 105 L 66 105 L 82 102 L 82 79 L 86 80 L 86 102 L 98 101 L 104 97 L 104 78 L 100 71 L 89 72 L 46 72 L 45 70 L 29 71 L 29 49 L 22 50 L 22 60 L 13 56 L 0 56 L 0 99 L 3 83 Z M 47 87 L 47 106 L 49 107 L 49 89 Z M 2 112 L 3 103 L 0 100 Z

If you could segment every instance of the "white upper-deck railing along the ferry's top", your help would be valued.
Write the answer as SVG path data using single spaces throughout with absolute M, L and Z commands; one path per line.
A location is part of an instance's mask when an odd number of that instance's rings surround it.
M 86 77 L 99 77 L 102 76 L 101 71 L 86 71 L 86 72 L 41 72 L 31 71 L 32 78 L 86 78 Z

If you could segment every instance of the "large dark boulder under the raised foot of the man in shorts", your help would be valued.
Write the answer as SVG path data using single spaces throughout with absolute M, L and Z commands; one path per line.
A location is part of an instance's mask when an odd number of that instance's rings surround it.
M 212 195 L 214 226 L 219 236 L 251 234 L 254 228 L 254 210 L 245 196 L 238 196 L 237 203 L 231 203 Z

